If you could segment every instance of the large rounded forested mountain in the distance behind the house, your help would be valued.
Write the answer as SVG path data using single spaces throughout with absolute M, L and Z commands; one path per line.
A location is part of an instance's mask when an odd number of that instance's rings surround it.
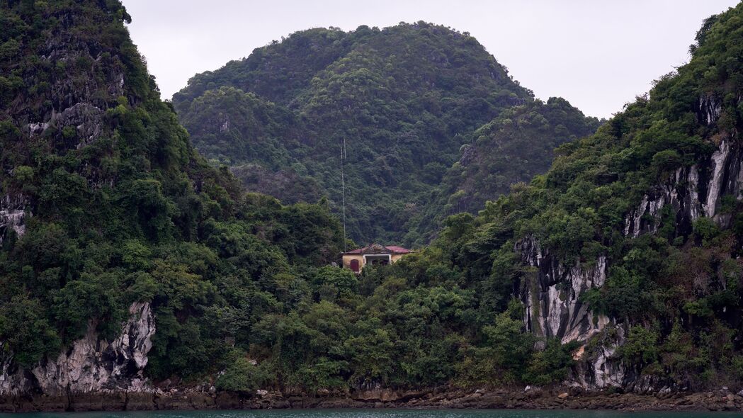
M 459 190 L 463 165 L 499 176 L 463 207 L 476 212 L 510 184 L 543 173 L 555 145 L 598 126 L 564 100 L 549 112 L 557 102 L 537 103 L 472 36 L 424 22 L 293 33 L 196 75 L 173 103 L 207 158 L 232 167 L 249 190 L 285 202 L 328 196 L 339 213 L 343 158 L 350 237 L 409 245 L 425 244 L 440 225 L 444 216 L 432 211 Z M 516 110 L 522 106 L 528 110 Z M 462 146 L 507 120 L 506 109 L 545 109 L 551 119 L 526 127 L 528 117 L 519 117 L 519 136 L 500 135 L 497 149 L 475 160 L 467 159 L 473 149 L 462 155 Z M 532 146 L 539 152 L 520 155 Z M 518 169 L 502 164 L 511 158 Z

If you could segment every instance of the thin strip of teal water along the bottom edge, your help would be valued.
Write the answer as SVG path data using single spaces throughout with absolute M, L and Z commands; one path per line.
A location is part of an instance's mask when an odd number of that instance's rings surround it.
M 288 409 L 271 411 L 142 411 L 0 414 L 0 418 L 733 418 L 725 412 L 530 410 Z

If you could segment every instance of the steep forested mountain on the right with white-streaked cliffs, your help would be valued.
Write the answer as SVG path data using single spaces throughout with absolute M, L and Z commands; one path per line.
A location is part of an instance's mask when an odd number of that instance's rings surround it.
M 512 312 L 543 349 L 513 361 L 483 335 L 460 352 L 467 381 L 498 370 L 539 384 L 567 360 L 559 379 L 583 388 L 741 388 L 743 4 L 705 20 L 695 41 L 690 62 L 559 147 L 547 173 L 478 216 L 448 218 L 379 279 L 473 292 L 480 315 L 505 327 L 499 312 Z M 510 352 L 531 349 L 519 338 Z M 550 371 L 535 380 L 533 367 Z

